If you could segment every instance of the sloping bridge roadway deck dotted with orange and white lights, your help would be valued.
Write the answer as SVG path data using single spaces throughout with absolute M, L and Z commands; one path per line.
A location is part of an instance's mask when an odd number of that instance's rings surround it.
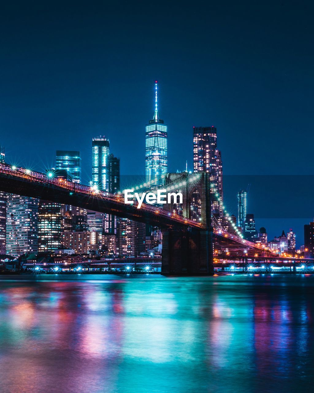
M 124 204 L 124 196 L 121 194 L 106 193 L 87 185 L 69 182 L 61 177 L 49 177 L 48 174 L 30 171 L 6 163 L 0 163 L 0 189 L 7 193 L 31 196 L 100 213 L 113 214 L 117 217 L 156 225 L 164 229 L 206 229 L 201 222 L 170 213 L 153 205 L 142 204 L 141 208 L 137 209 L 137 202 Z M 214 247 L 215 245 L 223 247 L 237 246 L 238 248 L 248 248 L 251 252 L 263 251 L 265 253 L 265 250 L 262 250 L 255 243 L 246 241 L 222 229 L 214 228 L 213 237 Z M 275 254 L 268 252 L 267 255 L 274 256 Z

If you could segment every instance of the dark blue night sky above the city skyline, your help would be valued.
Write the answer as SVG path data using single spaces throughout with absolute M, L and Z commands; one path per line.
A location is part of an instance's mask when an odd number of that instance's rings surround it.
M 192 169 L 192 126 L 215 125 L 224 174 L 313 174 L 314 9 L 310 2 L 273 3 L 2 4 L 0 144 L 7 162 L 42 171 L 55 165 L 57 149 L 80 150 L 87 183 L 91 139 L 101 134 L 122 174 L 143 174 L 158 79 L 169 171 L 183 170 L 186 160 Z M 235 189 L 225 179 L 231 213 L 237 189 L 247 186 L 239 179 Z M 294 196 L 305 187 L 314 192 L 314 182 L 300 179 L 288 181 L 285 192 L 274 177 L 263 181 L 279 210 L 283 198 L 289 206 L 270 217 L 265 206 L 259 211 L 265 198 L 251 180 L 248 213 L 270 237 L 292 225 L 303 243 L 313 193 L 301 200 L 309 207 L 302 214 Z

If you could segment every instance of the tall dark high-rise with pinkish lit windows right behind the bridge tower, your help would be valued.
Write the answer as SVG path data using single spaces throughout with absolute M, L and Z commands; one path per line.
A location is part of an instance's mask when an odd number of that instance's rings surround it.
M 216 127 L 193 127 L 193 162 L 194 172 L 210 173 L 210 182 L 218 191 L 223 202 L 223 162 L 217 149 Z M 211 194 L 215 193 L 210 189 Z M 212 215 L 219 225 L 223 225 L 223 210 L 217 199 L 212 197 Z M 214 222 L 214 224 L 217 224 Z

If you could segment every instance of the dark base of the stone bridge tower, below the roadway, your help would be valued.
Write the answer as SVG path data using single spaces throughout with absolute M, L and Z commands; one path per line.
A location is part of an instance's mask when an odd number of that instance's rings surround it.
M 213 275 L 212 228 L 162 231 L 161 273 Z

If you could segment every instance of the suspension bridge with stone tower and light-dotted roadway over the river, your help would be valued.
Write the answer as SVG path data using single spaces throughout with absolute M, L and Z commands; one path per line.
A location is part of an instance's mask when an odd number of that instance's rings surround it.
M 213 219 L 211 203 L 215 193 L 211 192 L 208 173 L 169 173 L 165 175 L 164 184 L 167 190 L 182 193 L 180 212 L 175 211 L 172 204 L 164 209 L 149 204 L 138 208 L 136 201 L 125 204 L 123 193 L 110 194 L 95 186 L 69 182 L 53 173 L 0 164 L 0 189 L 4 192 L 69 204 L 161 228 L 162 274 L 210 275 L 214 273 L 217 257 L 242 262 L 252 258 L 266 262 L 278 259 L 270 250 L 226 231 Z M 193 209 L 195 192 L 199 203 L 197 217 Z

